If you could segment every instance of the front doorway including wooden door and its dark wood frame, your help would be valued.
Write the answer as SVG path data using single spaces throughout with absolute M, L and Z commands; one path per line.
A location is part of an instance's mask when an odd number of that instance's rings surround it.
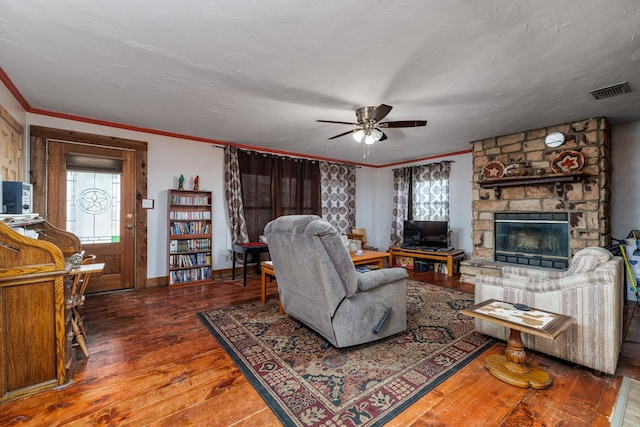
M 64 137 L 66 131 L 37 127 L 31 132 L 36 212 L 76 234 L 85 253 L 105 263 L 87 293 L 145 287 L 146 210 L 140 195 L 146 194 L 146 170 L 140 157 L 146 163 L 146 143 L 75 132 Z M 46 175 L 34 165 L 42 157 Z M 44 194 L 39 182 L 46 182 Z

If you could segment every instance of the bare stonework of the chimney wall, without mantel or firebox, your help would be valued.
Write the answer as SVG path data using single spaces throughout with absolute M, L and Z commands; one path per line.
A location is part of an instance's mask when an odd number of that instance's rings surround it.
M 559 131 L 566 141 L 557 148 L 545 146 L 545 136 Z M 611 144 L 605 118 L 565 123 L 512 135 L 472 142 L 473 148 L 473 253 L 467 265 L 493 261 L 494 212 L 568 212 L 569 248 L 573 256 L 588 246 L 611 243 Z M 509 187 L 481 187 L 482 170 L 490 161 L 505 166 L 526 162 L 528 175 L 553 176 L 552 160 L 565 150 L 582 153 L 586 176 L 578 182 L 534 183 Z M 526 178 L 523 176 L 522 178 Z M 465 280 L 464 271 L 463 280 Z M 472 280 L 471 280 L 472 282 Z

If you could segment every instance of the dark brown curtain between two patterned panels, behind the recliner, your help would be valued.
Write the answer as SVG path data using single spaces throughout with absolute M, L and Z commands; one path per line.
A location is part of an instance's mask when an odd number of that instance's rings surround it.
M 318 162 L 238 150 L 238 163 L 250 241 L 279 216 L 321 214 Z

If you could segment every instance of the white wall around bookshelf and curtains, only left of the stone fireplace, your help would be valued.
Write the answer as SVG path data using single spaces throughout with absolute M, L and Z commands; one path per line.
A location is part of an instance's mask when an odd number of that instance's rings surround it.
M 213 192 L 213 268 L 231 267 L 227 215 L 224 203 L 224 152 L 211 144 L 194 142 L 135 132 L 108 126 L 58 119 L 49 116 L 25 113 L 20 104 L 0 85 L 0 103 L 13 116 L 28 126 L 45 126 L 78 132 L 107 135 L 119 138 L 147 141 L 148 185 L 147 198 L 155 200 L 154 209 L 147 211 L 148 219 L 148 266 L 149 278 L 167 274 L 167 191 L 177 186 L 180 174 L 185 176 L 185 187 L 190 188 L 193 178 L 200 177 L 200 188 Z M 452 160 L 451 174 L 451 228 L 456 247 L 471 251 L 471 154 L 443 157 L 434 161 Z M 430 163 L 430 162 L 417 162 Z M 27 165 L 28 167 L 28 165 Z M 391 234 L 391 197 L 393 188 L 392 168 L 356 169 L 356 226 L 367 229 L 369 244 L 386 250 Z M 454 197 L 455 195 L 455 197 Z

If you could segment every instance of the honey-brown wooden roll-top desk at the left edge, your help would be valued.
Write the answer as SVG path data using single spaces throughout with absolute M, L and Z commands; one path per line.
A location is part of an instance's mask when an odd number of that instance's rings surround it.
M 0 222 L 0 402 L 71 381 L 67 273 L 58 246 Z

